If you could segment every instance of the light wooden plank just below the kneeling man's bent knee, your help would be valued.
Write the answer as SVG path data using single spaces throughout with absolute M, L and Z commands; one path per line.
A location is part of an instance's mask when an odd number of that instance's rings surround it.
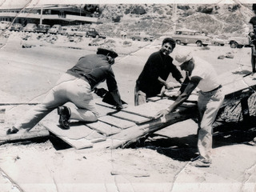
M 106 136 L 117 134 L 121 130 L 118 129 L 115 126 L 110 126 L 109 124 L 106 124 L 105 122 L 91 122 L 86 124 L 86 126 L 90 127 L 93 130 L 97 130 L 99 133 L 102 133 Z

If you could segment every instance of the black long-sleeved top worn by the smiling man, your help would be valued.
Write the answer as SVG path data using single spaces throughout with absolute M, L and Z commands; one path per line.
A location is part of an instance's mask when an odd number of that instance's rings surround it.
M 177 81 L 182 78 L 182 74 L 173 64 L 173 58 L 162 54 L 160 50 L 151 54 L 138 77 L 138 90 L 142 90 L 147 98 L 160 94 L 163 85 L 158 77 L 166 81 L 170 73 Z

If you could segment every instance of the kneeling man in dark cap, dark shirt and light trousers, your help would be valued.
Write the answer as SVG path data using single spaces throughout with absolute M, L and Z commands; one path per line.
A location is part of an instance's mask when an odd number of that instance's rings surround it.
M 114 78 L 112 65 L 118 54 L 114 50 L 98 48 L 97 54 L 79 58 L 75 66 L 62 74 L 56 86 L 44 98 L 44 101 L 17 122 L 6 134 L 15 134 L 21 129 L 32 129 L 42 118 L 58 108 L 59 124 L 62 129 L 69 129 L 69 120 L 95 122 L 98 119 L 93 100 L 93 90 L 106 80 L 110 94 L 116 102 L 117 110 L 122 109 L 122 100 Z M 63 106 L 66 102 L 74 103 L 77 108 Z

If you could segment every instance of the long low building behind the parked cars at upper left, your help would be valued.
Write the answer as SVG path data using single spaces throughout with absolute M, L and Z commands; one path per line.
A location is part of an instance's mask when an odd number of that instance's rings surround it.
M 98 9 L 96 5 L 44 5 L 8 9 L 0 7 L 0 21 L 21 23 L 22 26 L 27 23 L 50 26 L 91 24 L 98 22 Z

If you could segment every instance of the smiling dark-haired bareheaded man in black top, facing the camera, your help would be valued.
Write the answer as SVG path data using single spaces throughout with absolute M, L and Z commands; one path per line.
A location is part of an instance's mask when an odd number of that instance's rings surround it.
M 134 104 L 135 106 L 141 105 L 146 102 L 147 98 L 154 97 L 160 94 L 162 87 L 166 89 L 174 88 L 177 84 L 170 84 L 166 82 L 169 74 L 180 84 L 182 83 L 182 74 L 174 66 L 173 58 L 170 57 L 170 53 L 173 52 L 175 47 L 175 41 L 173 38 L 165 38 L 162 41 L 161 50 L 150 55 L 148 58 L 142 73 L 139 75 L 136 81 L 134 91 Z M 178 86 L 180 84 L 178 83 Z

